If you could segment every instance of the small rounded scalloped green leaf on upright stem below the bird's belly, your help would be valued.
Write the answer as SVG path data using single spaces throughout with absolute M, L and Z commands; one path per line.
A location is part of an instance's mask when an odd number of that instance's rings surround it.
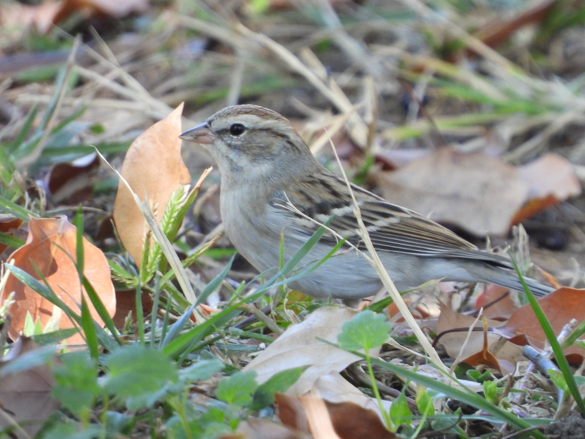
M 384 314 L 374 311 L 362 311 L 352 320 L 344 323 L 341 333 L 337 336 L 339 345 L 348 351 L 369 350 L 377 348 L 386 342 L 392 325 Z

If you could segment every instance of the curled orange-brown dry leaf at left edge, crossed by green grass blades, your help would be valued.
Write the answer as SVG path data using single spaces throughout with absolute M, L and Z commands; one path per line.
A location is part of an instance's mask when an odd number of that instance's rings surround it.
M 49 219 L 31 218 L 26 244 L 16 249 L 8 260 L 15 259 L 14 265 L 35 279 L 40 279 L 36 272 L 38 269 L 57 296 L 71 309 L 79 312 L 82 288 L 74 265 L 76 235 L 77 229 L 73 224 L 67 222 L 67 217 L 64 215 Z M 83 249 L 84 275 L 94 287 L 109 315 L 112 316 L 116 310 L 116 296 L 108 261 L 104 253 L 85 238 L 83 239 Z M 15 303 L 10 308 L 12 324 L 8 334 L 15 340 L 24 328 L 27 312 L 30 312 L 34 321 L 40 319 L 44 327 L 53 315 L 55 307 L 13 275 L 8 277 L 0 301 L 6 299 L 11 291 L 15 291 Z M 91 306 L 85 289 L 83 289 L 83 293 L 90 306 L 92 317 L 103 324 L 97 311 Z M 73 327 L 71 321 L 65 314 L 61 315 L 60 328 L 71 327 Z M 76 334 L 68 338 L 67 341 L 69 343 L 82 343 L 83 338 L 80 334 Z

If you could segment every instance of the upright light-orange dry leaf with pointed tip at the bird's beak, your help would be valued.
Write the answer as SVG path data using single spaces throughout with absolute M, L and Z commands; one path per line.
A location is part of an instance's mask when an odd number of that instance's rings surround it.
M 183 103 L 138 136 L 130 145 L 122 165 L 122 177 L 140 200 L 148 198 L 158 222 L 171 193 L 191 181 L 189 170 L 181 159 L 181 139 L 178 137 L 182 132 L 182 112 Z M 123 183 L 118 187 L 113 220 L 124 247 L 140 266 L 148 227 Z

